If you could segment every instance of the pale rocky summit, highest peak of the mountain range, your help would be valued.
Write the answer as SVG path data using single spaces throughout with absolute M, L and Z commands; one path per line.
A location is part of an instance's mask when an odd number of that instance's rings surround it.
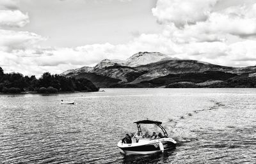
M 126 60 L 125 65 L 135 67 L 170 59 L 173 58 L 165 54 L 161 54 L 160 52 L 138 52 L 137 54 L 129 57 Z

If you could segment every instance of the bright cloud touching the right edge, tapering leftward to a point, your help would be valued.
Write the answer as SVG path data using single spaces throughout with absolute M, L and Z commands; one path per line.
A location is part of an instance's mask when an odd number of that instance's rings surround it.
M 187 28 L 189 30 L 189 27 Z M 253 6 L 233 6 L 213 12 L 205 22 L 198 22 L 190 29 L 203 33 L 233 34 L 240 37 L 256 34 L 256 4 Z

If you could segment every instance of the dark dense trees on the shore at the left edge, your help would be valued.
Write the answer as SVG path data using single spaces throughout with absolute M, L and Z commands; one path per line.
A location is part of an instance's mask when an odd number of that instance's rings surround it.
M 90 80 L 86 78 L 67 78 L 61 75 L 51 75 L 46 72 L 40 78 L 34 75 L 23 76 L 21 73 L 4 73 L 0 67 L 0 92 L 20 93 L 35 91 L 38 93 L 57 93 L 73 91 L 99 91 Z

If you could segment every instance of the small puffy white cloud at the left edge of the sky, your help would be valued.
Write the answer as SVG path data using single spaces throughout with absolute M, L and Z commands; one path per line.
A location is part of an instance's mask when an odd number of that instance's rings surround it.
M 0 26 L 22 27 L 29 23 L 28 13 L 19 10 L 0 10 Z

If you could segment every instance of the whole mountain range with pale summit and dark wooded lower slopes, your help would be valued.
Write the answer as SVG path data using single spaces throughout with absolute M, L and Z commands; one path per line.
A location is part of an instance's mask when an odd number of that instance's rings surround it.
M 220 66 L 159 52 L 138 52 L 124 61 L 104 59 L 60 75 L 87 78 L 97 87 L 256 87 L 256 66 Z

